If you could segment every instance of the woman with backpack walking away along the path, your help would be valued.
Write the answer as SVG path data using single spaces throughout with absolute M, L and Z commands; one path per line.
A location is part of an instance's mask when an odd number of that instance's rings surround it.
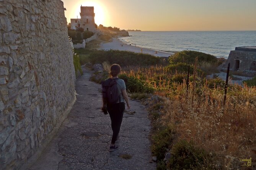
M 127 109 L 130 109 L 128 95 L 126 93 L 126 84 L 124 80 L 119 79 L 121 67 L 118 64 L 113 64 L 110 68 L 110 78 L 102 83 L 103 88 L 103 107 L 102 111 L 108 111 L 111 119 L 111 127 L 113 131 L 109 151 L 113 152 L 118 149 L 119 131 L 124 115 L 125 103 Z M 105 113 L 107 114 L 107 113 Z

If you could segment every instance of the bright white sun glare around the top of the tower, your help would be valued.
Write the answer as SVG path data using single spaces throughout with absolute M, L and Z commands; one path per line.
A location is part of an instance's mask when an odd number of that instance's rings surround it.
M 80 1 L 74 5 L 74 9 L 72 11 L 75 11 L 76 16 L 80 18 L 80 6 L 94 6 L 94 13 L 95 13 L 95 23 L 97 25 L 99 24 L 106 24 L 107 20 L 107 11 L 104 8 L 104 5 L 102 5 L 98 1 Z

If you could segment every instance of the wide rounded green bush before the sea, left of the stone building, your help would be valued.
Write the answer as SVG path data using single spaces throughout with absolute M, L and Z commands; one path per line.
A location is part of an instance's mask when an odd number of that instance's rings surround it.
M 217 57 L 202 52 L 190 50 L 184 50 L 175 53 L 173 56 L 169 57 L 169 61 L 170 63 L 194 64 L 196 57 L 198 57 L 199 65 L 203 62 L 218 64 Z

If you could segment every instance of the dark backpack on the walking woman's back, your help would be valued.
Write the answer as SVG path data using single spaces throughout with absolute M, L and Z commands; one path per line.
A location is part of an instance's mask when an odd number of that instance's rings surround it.
M 103 100 L 108 104 L 116 104 L 120 101 L 122 92 L 116 82 L 118 79 L 109 78 L 101 83 Z

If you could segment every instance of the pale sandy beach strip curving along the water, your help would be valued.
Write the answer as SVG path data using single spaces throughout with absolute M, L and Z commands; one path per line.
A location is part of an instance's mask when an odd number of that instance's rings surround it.
M 174 53 L 165 53 L 162 51 L 157 51 L 157 54 L 156 54 L 155 50 L 128 45 L 128 44 L 123 43 L 121 40 L 119 40 L 117 38 L 113 38 L 112 42 L 101 43 L 100 47 L 98 49 L 99 50 L 111 50 L 112 49 L 112 50 L 132 51 L 135 53 L 141 53 L 141 49 L 142 49 L 142 53 L 150 54 L 150 55 L 158 56 L 158 57 L 168 57 L 168 56 L 174 54 Z

